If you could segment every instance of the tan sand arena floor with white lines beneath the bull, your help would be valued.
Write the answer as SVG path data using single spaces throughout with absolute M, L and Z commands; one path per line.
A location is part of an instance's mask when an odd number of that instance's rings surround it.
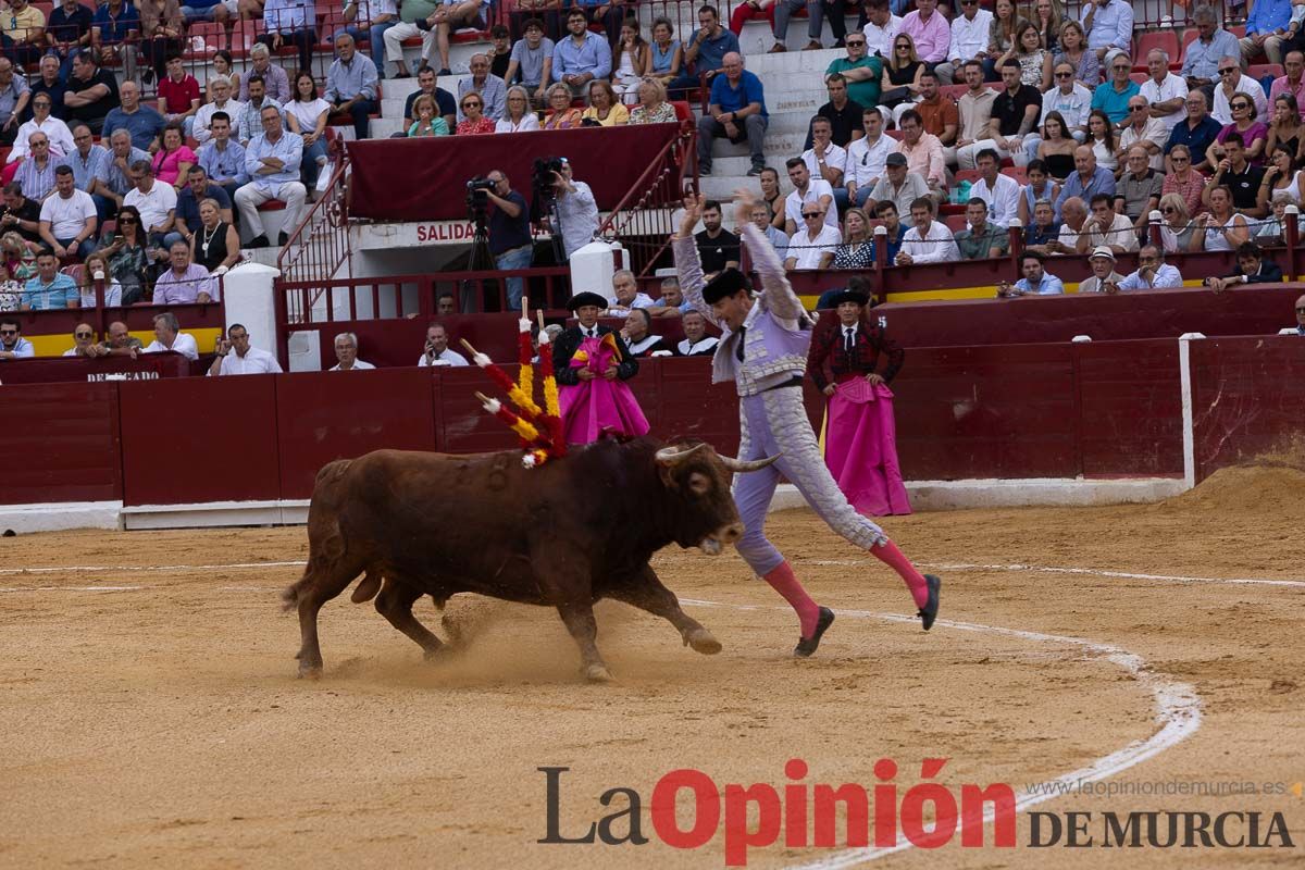
M 304 558 L 301 528 L 0 539 L 0 866 L 723 866 L 720 833 L 696 850 L 654 836 L 654 785 L 693 767 L 722 787 L 782 787 L 793 757 L 806 784 L 865 787 L 891 758 L 900 792 L 923 758 L 944 757 L 949 787 L 1009 783 L 1022 801 L 1028 784 L 1075 771 L 1134 789 L 1282 783 L 1026 809 L 1280 811 L 1297 844 L 1030 849 L 1022 811 L 1015 849 L 957 837 L 874 865 L 1301 866 L 1302 524 L 1305 475 L 1265 468 L 1161 505 L 891 518 L 894 539 L 945 580 L 924 634 L 889 618 L 914 613 L 895 577 L 812 514 L 775 514 L 773 537 L 840 610 L 818 656 L 790 657 L 792 614 L 736 554 L 664 550 L 667 584 L 715 603 L 688 609 L 724 651 L 699 656 L 669 625 L 604 603 L 599 644 L 619 680 L 606 686 L 578 681 L 553 612 L 454 599 L 470 640 L 425 664 L 347 595 L 322 610 L 325 677 L 295 680 L 298 623 L 278 593 L 300 569 L 269 563 Z M 441 631 L 428 601 L 416 612 Z M 652 841 L 536 844 L 542 766 L 572 768 L 562 833 L 624 806 L 598 798 L 628 787 Z M 748 857 L 873 858 L 846 852 L 780 841 Z

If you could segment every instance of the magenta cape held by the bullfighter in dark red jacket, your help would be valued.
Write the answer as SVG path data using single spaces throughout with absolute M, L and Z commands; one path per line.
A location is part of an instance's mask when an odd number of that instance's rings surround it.
M 838 385 L 829 399 L 825 464 L 857 513 L 910 514 L 911 502 L 897 462 L 893 391 L 864 377 Z

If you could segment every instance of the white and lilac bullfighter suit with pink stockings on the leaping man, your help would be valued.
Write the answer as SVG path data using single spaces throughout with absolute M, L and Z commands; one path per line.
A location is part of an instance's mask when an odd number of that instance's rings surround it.
M 809 656 L 834 621 L 834 613 L 812 601 L 792 566 L 766 539 L 766 511 L 783 475 L 830 528 L 902 577 L 928 630 L 937 617 L 941 580 L 920 574 L 882 528 L 856 513 L 830 476 L 803 406 L 810 318 L 788 283 L 774 247 L 750 222 L 743 224 L 743 243 L 761 278 L 761 293 L 753 297 L 740 327 L 731 330 L 713 304 L 746 292 L 746 278 L 736 269 L 727 269 L 710 284 L 703 284 L 696 240 L 679 233 L 672 237 L 685 301 L 723 333 L 713 360 L 711 381 L 737 385 L 739 458 L 780 457 L 767 468 L 735 475 L 733 497 L 746 530 L 737 543 L 739 553 L 797 612 L 801 639 L 795 655 Z

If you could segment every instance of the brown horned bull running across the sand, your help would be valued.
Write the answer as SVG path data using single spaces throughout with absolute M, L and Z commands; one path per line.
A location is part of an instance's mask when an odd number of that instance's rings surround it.
M 680 609 L 649 560 L 672 541 L 711 556 L 736 541 L 744 530 L 729 475 L 775 459 L 638 438 L 532 470 L 519 451 L 377 450 L 331 462 L 308 509 L 308 565 L 282 596 L 299 612 L 299 676 L 321 676 L 317 613 L 359 575 L 352 601 L 375 597 L 427 659 L 444 643 L 412 604 L 429 595 L 442 608 L 458 592 L 557 608 L 594 681 L 612 678 L 595 644 L 594 603 L 604 597 L 663 617 L 685 646 L 716 653 L 720 643 Z

